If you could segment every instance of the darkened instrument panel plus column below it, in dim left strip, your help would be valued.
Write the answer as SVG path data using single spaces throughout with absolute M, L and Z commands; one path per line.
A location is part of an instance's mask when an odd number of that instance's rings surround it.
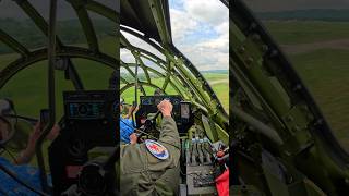
M 115 90 L 64 91 L 63 102 L 62 130 L 49 146 L 53 195 L 76 184 L 76 171 L 88 161 L 92 148 L 110 148 L 119 142 L 119 98 Z

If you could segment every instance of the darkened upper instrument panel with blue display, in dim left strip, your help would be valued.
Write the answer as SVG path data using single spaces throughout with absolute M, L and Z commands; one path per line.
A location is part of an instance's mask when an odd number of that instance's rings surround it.
M 83 133 L 87 143 L 110 146 L 117 143 L 118 105 L 112 90 L 64 91 L 68 130 Z

